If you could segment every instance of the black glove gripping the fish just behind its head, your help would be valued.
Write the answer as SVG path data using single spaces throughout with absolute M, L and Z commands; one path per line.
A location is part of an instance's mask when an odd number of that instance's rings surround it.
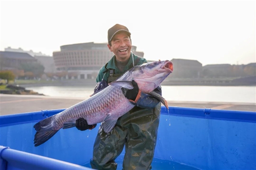
M 134 86 L 133 89 L 127 89 L 127 88 L 121 88 L 121 89 L 127 99 L 129 99 L 131 102 L 136 102 L 135 100 L 140 97 L 141 91 L 138 87 L 137 82 L 132 80 L 131 83 Z

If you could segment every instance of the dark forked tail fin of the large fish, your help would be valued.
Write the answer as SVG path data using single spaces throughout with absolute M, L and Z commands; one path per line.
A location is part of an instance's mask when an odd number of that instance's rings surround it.
M 52 118 L 53 116 L 50 116 L 34 125 L 36 130 L 34 138 L 35 147 L 43 144 L 58 132 L 58 130 L 52 130 Z

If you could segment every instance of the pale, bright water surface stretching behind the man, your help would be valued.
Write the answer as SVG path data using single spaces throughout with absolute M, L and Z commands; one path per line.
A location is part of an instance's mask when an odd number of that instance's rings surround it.
M 93 87 L 43 86 L 29 90 L 47 96 L 77 97 L 87 99 Z M 256 103 L 256 86 L 162 86 L 163 97 L 168 101 L 192 102 L 242 102 Z

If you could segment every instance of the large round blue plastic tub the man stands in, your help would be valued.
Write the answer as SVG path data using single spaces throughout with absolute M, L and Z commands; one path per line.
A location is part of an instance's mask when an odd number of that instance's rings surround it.
M 61 129 L 34 147 L 33 125 L 64 109 L 0 116 L 1 170 L 88 170 L 97 129 Z M 116 159 L 122 169 L 122 154 Z M 162 107 L 152 170 L 256 170 L 256 112 Z

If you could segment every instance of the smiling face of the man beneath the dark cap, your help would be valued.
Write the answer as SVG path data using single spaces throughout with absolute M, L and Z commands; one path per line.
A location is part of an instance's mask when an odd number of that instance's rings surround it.
M 111 40 L 111 45 L 108 44 L 108 48 L 112 51 L 116 59 L 119 61 L 126 61 L 131 55 L 131 39 L 124 32 L 120 32 Z

